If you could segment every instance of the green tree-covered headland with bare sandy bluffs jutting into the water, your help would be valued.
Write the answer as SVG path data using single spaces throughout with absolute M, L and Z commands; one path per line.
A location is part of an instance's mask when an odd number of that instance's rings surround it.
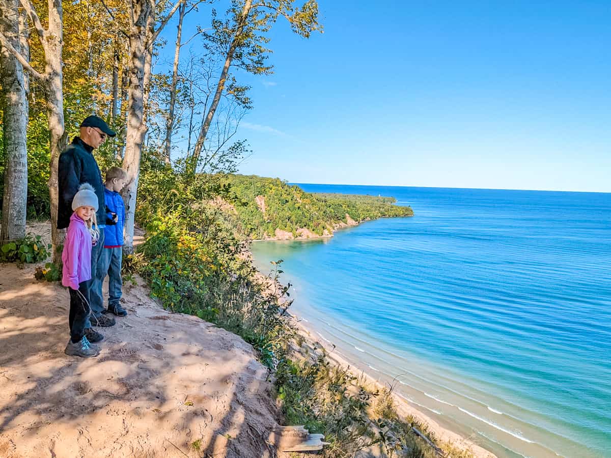
M 276 229 L 297 236 L 301 228 L 322 236 L 338 225 L 386 216 L 412 216 L 409 206 L 393 205 L 393 197 L 319 194 L 303 191 L 279 178 L 227 175 L 227 200 L 238 214 L 244 232 L 252 238 L 273 237 Z

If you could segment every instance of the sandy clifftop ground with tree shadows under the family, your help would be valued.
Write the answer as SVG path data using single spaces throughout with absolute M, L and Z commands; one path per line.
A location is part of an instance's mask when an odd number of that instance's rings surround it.
M 252 347 L 163 310 L 141 279 L 123 300 L 99 357 L 68 357 L 67 290 L 0 264 L 0 456 L 274 456 L 273 387 Z

